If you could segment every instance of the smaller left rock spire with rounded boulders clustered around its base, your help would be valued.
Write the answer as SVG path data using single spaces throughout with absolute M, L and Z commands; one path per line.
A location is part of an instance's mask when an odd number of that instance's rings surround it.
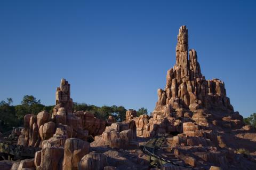
M 82 119 L 72 113 L 72 106 L 70 84 L 61 79 L 52 116 L 47 111 L 41 111 L 37 116 L 26 115 L 18 144 L 42 147 L 44 143 L 49 143 L 50 146 L 63 146 L 69 137 L 86 140 L 88 131 L 83 128 Z

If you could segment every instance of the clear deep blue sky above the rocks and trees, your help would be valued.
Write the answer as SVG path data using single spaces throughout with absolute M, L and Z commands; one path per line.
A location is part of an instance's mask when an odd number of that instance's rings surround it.
M 255 1 L 0 1 L 0 100 L 34 95 L 153 111 L 175 63 L 181 25 L 206 79 L 236 111 L 256 112 Z

